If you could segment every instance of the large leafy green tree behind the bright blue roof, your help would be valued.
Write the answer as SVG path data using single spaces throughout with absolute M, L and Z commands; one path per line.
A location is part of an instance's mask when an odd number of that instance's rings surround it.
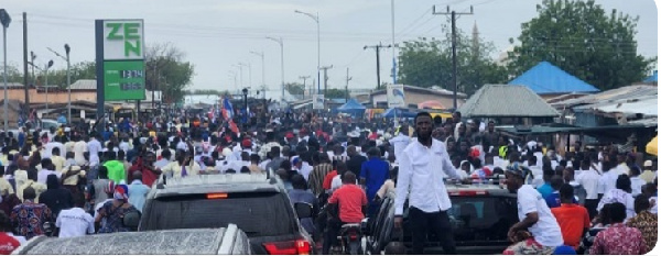
M 608 90 L 642 80 L 655 63 L 637 54 L 638 16 L 608 14 L 594 0 L 544 0 L 537 10 L 537 18 L 521 24 L 521 45 L 510 53 L 513 76 L 546 60 Z

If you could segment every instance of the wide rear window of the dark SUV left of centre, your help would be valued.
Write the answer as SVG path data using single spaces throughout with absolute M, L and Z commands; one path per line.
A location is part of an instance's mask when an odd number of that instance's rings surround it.
M 293 234 L 293 211 L 280 193 L 229 193 L 158 198 L 150 204 L 143 230 L 226 227 L 236 224 L 248 237 Z

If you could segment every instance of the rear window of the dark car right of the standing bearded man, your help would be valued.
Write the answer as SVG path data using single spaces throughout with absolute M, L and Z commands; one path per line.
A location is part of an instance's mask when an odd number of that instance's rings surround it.
M 517 222 L 516 199 L 453 197 L 449 220 L 458 241 L 505 241 Z

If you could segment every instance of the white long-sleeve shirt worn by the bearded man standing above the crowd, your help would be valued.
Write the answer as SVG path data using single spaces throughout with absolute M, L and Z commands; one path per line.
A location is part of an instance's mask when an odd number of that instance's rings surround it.
M 452 203 L 443 182 L 443 174 L 455 179 L 460 177 L 452 165 L 445 144 L 432 140 L 432 146 L 426 147 L 414 140 L 404 148 L 401 156 L 394 214 L 403 213 L 407 198 L 410 207 L 423 212 L 449 209 Z

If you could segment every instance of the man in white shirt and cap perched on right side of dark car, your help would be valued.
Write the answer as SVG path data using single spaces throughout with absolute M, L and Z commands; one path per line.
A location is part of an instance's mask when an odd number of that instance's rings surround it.
M 546 205 L 546 201 L 537 189 L 524 185 L 524 177 L 529 171 L 520 163 L 513 163 L 505 172 L 507 189 L 517 192 L 519 222 L 507 233 L 514 244 L 503 254 L 550 255 L 557 246 L 564 244 L 557 220 Z M 532 237 L 521 235 L 522 232 L 530 232 Z

